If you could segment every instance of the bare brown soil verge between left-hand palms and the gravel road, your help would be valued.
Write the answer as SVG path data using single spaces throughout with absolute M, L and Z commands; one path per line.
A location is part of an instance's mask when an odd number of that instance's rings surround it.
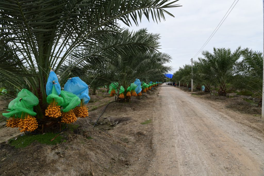
M 111 103 L 96 127 L 93 125 L 105 107 L 102 105 L 114 97 L 89 103 L 89 110 L 98 108 L 74 123 L 78 129 L 61 134 L 66 142 L 57 145 L 33 142 L 17 149 L 6 141 L 11 137 L 6 131 L 9 128 L 2 128 L 6 142 L 0 143 L 0 175 L 144 175 L 145 170 L 132 166 L 138 166 L 141 159 L 140 166 L 147 167 L 149 158 L 143 154 L 152 152 L 153 126 L 141 123 L 151 117 L 148 113 L 157 92 L 132 97 L 131 103 Z

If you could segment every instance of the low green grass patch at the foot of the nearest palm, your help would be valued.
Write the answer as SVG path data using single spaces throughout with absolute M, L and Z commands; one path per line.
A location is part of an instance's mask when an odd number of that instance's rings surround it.
M 15 148 L 25 148 L 26 146 L 32 144 L 33 142 L 39 142 L 41 144 L 46 145 L 56 145 L 62 142 L 63 137 L 58 136 L 53 141 L 50 141 L 53 139 L 56 135 L 56 133 L 45 133 L 45 134 L 39 134 L 39 135 L 23 135 L 18 136 L 17 139 L 11 139 L 9 140 L 9 144 L 11 146 L 14 146 Z

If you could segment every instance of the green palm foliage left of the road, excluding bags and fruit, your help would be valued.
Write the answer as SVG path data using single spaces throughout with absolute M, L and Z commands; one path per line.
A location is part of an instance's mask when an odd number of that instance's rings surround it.
M 3 0 L 0 3 L 0 81 L 13 92 L 22 88 L 45 107 L 50 70 L 60 84 L 79 76 L 88 84 L 135 78 L 156 80 L 171 68 L 171 57 L 160 53 L 159 35 L 147 29 L 130 32 L 143 17 L 159 22 L 178 0 Z M 133 81 L 132 81 L 133 80 Z M 98 83 L 98 84 L 96 84 Z M 40 106 L 42 105 L 42 106 Z M 44 105 L 44 106 L 43 106 Z

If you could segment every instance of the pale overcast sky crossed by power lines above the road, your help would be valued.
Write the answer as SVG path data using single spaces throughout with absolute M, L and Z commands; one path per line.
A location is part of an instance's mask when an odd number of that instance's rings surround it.
M 175 17 L 157 24 L 146 18 L 130 30 L 148 28 L 148 32 L 161 35 L 161 50 L 172 56 L 174 73 L 187 64 L 199 51 L 215 27 L 224 17 L 234 0 L 180 0 L 182 7 L 168 9 Z M 250 47 L 263 52 L 263 2 L 239 0 L 223 25 L 203 50 L 213 47 L 235 50 L 238 46 Z M 201 52 L 199 53 L 201 55 Z M 196 59 L 197 59 L 196 57 Z M 195 60 L 195 59 L 194 59 Z

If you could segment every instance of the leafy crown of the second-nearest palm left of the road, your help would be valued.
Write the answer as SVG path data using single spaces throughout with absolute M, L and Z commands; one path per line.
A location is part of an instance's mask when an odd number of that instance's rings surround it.
M 107 58 L 104 64 L 84 65 L 89 74 L 97 76 L 98 79 L 104 79 L 108 83 L 117 82 L 126 89 L 136 78 L 142 81 L 162 79 L 164 73 L 171 70 L 171 66 L 164 65 L 170 62 L 171 56 L 158 51 L 159 35 L 148 33 L 147 29 L 141 29 L 134 33 L 125 30 L 120 37 L 122 41 L 129 41 L 135 46 L 139 43 L 142 45 L 138 49 L 119 47 L 103 51 L 101 57 Z

